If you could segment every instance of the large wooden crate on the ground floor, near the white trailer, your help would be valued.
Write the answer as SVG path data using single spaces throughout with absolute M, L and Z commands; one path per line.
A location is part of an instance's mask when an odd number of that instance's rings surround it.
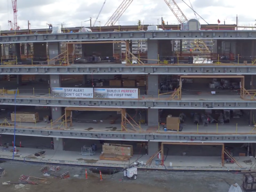
M 112 144 L 104 143 L 102 146 L 103 154 L 114 154 L 121 156 L 133 156 L 132 145 L 121 145 L 121 144 Z

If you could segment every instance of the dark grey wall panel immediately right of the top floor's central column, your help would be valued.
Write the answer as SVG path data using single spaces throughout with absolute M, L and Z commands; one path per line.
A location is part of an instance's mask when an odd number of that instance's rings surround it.
M 160 60 L 165 60 L 167 57 L 173 56 L 172 40 L 158 40 Z

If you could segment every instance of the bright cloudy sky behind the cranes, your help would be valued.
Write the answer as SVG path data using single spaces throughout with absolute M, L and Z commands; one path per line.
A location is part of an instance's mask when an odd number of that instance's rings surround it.
M 12 0 L 0 0 L 1 30 L 8 30 L 8 20 L 13 21 Z M 89 26 L 90 17 L 96 19 L 104 0 L 17 0 L 18 25 L 27 29 L 27 20 L 32 29 L 46 28 L 46 23 L 53 26 L 77 27 Z M 101 15 L 95 26 L 104 26 L 123 0 L 106 0 Z M 182 0 L 175 0 L 188 19 L 195 18 L 193 11 Z M 184 0 L 188 5 L 189 0 Z M 255 25 L 254 9 L 256 0 L 191 0 L 194 10 L 210 24 L 235 24 L 238 15 L 239 25 Z M 178 24 L 164 0 L 133 0 L 116 25 L 135 25 L 138 19 L 144 24 L 157 25 L 161 16 L 168 24 Z M 200 23 L 205 22 L 199 18 Z

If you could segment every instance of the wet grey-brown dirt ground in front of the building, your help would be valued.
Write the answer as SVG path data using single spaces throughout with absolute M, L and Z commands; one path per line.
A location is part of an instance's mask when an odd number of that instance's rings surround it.
M 242 183 L 242 174 L 234 172 L 172 172 L 139 170 L 137 180 L 124 179 L 123 172 L 103 175 L 91 173 L 89 168 L 60 166 L 61 170 L 51 176 L 43 176 L 39 169 L 45 164 L 8 161 L 0 163 L 6 174 L 0 177 L 0 191 L 3 192 L 228 192 L 231 184 Z M 85 179 L 85 169 L 88 179 Z M 69 171 L 70 178 L 60 179 L 62 173 Z M 25 185 L 17 189 L 15 184 L 2 185 L 3 182 L 18 182 L 21 175 L 46 178 L 47 183 Z M 38 182 L 38 181 L 35 181 Z

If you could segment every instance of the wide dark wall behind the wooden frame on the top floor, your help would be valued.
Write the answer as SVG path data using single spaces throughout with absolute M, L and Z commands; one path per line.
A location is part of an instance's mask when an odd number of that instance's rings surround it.
M 82 44 L 83 57 L 90 57 L 93 54 L 99 57 L 113 57 L 113 50 L 112 43 Z

